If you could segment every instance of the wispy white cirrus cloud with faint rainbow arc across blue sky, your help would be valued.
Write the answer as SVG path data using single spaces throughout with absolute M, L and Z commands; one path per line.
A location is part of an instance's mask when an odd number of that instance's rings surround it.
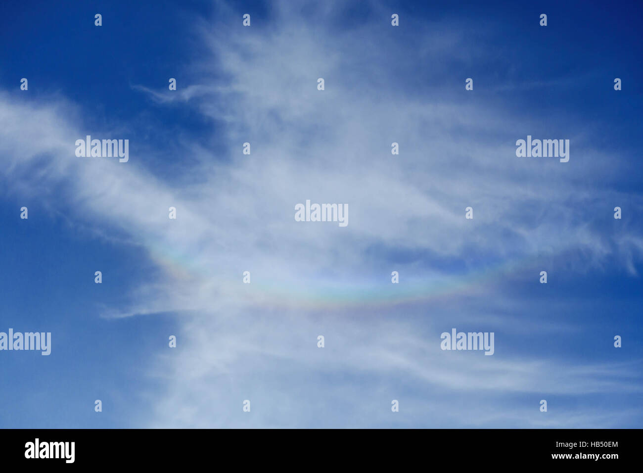
M 338 34 L 337 5 L 302 13 L 276 3 L 273 26 L 256 31 L 195 18 L 211 51 L 195 58 L 195 82 L 176 93 L 133 86 L 157 106 L 194 107 L 224 123 L 213 134 L 230 160 L 181 143 L 195 158 L 181 185 L 155 177 L 134 153 L 127 165 L 76 158 L 73 143 L 86 131 L 73 115 L 61 119 L 66 102 L 0 97 L 8 185 L 41 198 L 62 188 L 57 198 L 79 219 L 118 231 L 160 268 L 132 288 L 127 306 L 100 309 L 112 319 L 172 311 L 180 322 L 180 350 L 150 367 L 165 390 L 150 393 L 152 412 L 136 422 L 344 427 L 350 414 L 351 426 L 377 426 L 391 422 L 390 400 L 402 397 L 413 409 L 401 411 L 400 426 L 475 426 L 472 414 L 485 409 L 494 425 L 562 427 L 581 425 L 583 415 L 545 422 L 515 400 L 507 407 L 507 398 L 529 394 L 537 411 L 544 395 L 640 393 L 636 362 L 579 367 L 544 357 L 544 342 L 531 355 L 439 349 L 442 331 L 476 317 L 476 330 L 491 326 L 498 344 L 520 333 L 520 322 L 502 315 L 511 304 L 501 283 L 538 256 L 581 252 L 572 272 L 613 258 L 635 275 L 640 225 L 628 221 L 616 234 L 597 223 L 624 194 L 609 185 L 590 194 L 586 181 L 609 184 L 622 170 L 606 169 L 582 124 L 563 129 L 572 138 L 569 163 L 520 160 L 514 142 L 538 133 L 539 118 L 505 113 L 502 102 L 490 109 L 430 89 L 409 93 L 401 86 L 415 67 L 408 46 L 385 32 L 386 21 Z M 427 58 L 463 54 L 457 32 L 426 28 L 419 37 Z M 241 153 L 244 142 L 250 155 Z M 643 209 L 640 195 L 627 196 Z M 349 203 L 349 226 L 297 223 L 294 205 L 305 199 Z M 468 205 L 473 221 L 464 219 Z M 411 290 L 391 288 L 394 269 Z M 244 270 L 251 284 L 242 284 Z M 490 311 L 500 314 L 485 317 Z M 543 337 L 569 330 L 565 322 L 525 323 Z M 457 414 L 446 409 L 454 395 L 462 399 Z M 244 399 L 253 402 L 251 420 L 242 417 Z M 609 413 L 601 419 L 592 425 L 611 425 Z

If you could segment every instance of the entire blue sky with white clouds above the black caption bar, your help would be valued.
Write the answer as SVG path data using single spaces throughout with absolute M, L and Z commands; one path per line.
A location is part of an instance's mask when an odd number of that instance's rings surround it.
M 0 427 L 642 426 L 637 3 L 0 8 Z

